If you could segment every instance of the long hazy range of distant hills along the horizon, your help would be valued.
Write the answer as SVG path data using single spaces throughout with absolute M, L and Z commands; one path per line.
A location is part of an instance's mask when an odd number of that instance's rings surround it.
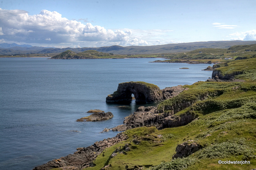
M 20 47 L 13 46 L 4 48 L 0 47 L 0 55 L 14 55 L 14 54 L 31 54 L 31 53 L 62 53 L 67 50 L 81 53 L 83 51 L 95 50 L 103 53 L 113 53 L 116 55 L 140 55 L 140 54 L 161 54 L 161 53 L 181 53 L 193 51 L 202 48 L 212 49 L 228 49 L 234 45 L 251 45 L 256 44 L 256 41 L 206 41 L 193 43 L 177 43 L 166 45 L 151 45 L 151 46 L 127 46 L 122 47 L 113 45 L 108 47 L 83 47 L 83 48 L 49 48 L 49 47 Z M 3 45 L 4 46 L 4 45 Z M 5 45 L 6 47 L 7 45 Z

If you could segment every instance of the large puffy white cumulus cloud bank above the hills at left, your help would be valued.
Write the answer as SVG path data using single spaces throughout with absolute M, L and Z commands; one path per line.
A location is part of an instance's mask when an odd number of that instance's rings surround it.
M 0 8 L 0 39 L 24 43 L 79 43 L 94 45 L 147 45 L 130 30 L 105 29 L 63 18 L 58 12 L 42 10 L 29 16 L 24 10 Z

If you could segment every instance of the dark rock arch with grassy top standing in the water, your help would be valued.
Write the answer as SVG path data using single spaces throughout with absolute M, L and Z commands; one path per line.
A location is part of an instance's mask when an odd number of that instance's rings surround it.
M 117 90 L 106 97 L 108 103 L 128 103 L 132 100 L 132 94 L 136 103 L 156 103 L 163 100 L 160 88 L 146 82 L 124 82 L 119 83 Z

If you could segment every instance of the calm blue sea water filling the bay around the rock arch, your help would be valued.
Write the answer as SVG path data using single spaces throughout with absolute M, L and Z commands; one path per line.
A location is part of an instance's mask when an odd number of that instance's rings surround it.
M 144 81 L 163 89 L 212 74 L 202 71 L 209 64 L 148 63 L 155 60 L 0 58 L 0 169 L 31 170 L 114 137 L 118 132 L 100 132 L 122 124 L 140 106 L 133 101 L 124 109 L 105 102 L 120 82 Z M 111 111 L 114 117 L 76 122 L 90 109 Z

